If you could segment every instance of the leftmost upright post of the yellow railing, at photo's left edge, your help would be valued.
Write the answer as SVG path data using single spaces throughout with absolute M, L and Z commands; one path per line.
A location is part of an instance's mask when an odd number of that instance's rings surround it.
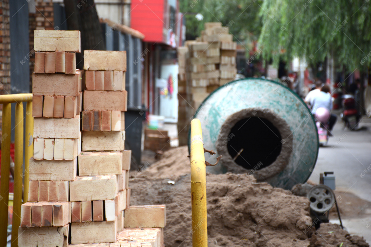
M 4 103 L 3 136 L 1 137 L 0 246 L 6 246 L 8 227 L 11 116 L 12 106 L 10 103 Z

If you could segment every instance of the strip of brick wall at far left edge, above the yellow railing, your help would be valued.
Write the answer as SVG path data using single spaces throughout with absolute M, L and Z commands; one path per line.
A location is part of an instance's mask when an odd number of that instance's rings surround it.
M 10 93 L 9 1 L 0 2 L 0 94 Z M 1 104 L 0 109 L 3 107 Z

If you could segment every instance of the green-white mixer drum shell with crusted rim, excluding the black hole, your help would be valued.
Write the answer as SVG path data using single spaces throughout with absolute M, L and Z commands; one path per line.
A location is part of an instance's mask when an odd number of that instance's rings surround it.
M 224 132 L 230 131 L 230 123 L 244 118 L 239 114 L 270 119 L 278 126 L 282 151 L 274 163 L 262 169 L 255 166 L 253 170 L 231 163 L 233 157 L 223 150 L 234 137 L 228 138 L 230 133 Z M 203 101 L 194 118 L 201 121 L 204 148 L 217 152 L 212 156 L 205 153 L 205 160 L 214 164 L 223 154 L 216 166 L 206 167 L 209 173 L 252 173 L 261 181 L 285 189 L 304 183 L 312 173 L 319 148 L 315 121 L 303 100 L 276 81 L 250 78 L 227 83 Z

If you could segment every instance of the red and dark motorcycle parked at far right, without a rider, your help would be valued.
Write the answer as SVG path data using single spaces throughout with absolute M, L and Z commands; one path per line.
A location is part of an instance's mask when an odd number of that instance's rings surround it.
M 342 97 L 344 110 L 340 114 L 341 119 L 343 120 L 345 127 L 348 127 L 349 130 L 356 130 L 361 118 L 361 113 L 358 111 L 357 102 L 354 99 L 354 96 L 350 94 L 345 94 Z

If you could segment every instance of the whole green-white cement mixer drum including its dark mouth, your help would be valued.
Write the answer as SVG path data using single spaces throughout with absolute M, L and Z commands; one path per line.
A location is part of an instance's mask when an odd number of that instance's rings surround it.
M 225 84 L 196 111 L 209 173 L 252 173 L 259 181 L 291 189 L 308 180 L 318 155 L 318 135 L 303 100 L 281 84 L 242 79 Z

